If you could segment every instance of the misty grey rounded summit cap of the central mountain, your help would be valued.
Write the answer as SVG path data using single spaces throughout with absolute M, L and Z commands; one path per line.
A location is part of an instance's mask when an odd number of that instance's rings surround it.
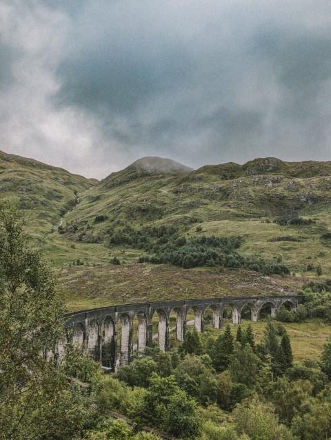
M 132 163 L 128 168 L 136 168 L 136 170 L 148 172 L 148 174 L 192 171 L 192 168 L 189 168 L 182 163 L 157 156 L 141 157 L 141 159 Z

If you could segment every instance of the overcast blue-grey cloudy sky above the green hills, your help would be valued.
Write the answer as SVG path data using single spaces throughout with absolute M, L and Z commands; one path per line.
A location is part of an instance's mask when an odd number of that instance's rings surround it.
M 0 0 L 0 150 L 331 160 L 331 1 Z

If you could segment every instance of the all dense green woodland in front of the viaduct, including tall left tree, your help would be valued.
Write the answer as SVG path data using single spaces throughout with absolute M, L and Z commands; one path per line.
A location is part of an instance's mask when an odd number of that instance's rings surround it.
M 70 345 L 57 359 L 63 304 L 24 223 L 1 207 L 0 439 L 157 440 L 146 426 L 178 439 L 331 437 L 331 341 L 321 357 L 296 363 L 279 323 L 330 321 L 330 283 L 305 286 L 298 313 L 283 309 L 278 321 L 265 321 L 259 343 L 251 326 L 234 336 L 230 325 L 219 334 L 193 329 L 170 352 L 150 348 L 103 374 Z

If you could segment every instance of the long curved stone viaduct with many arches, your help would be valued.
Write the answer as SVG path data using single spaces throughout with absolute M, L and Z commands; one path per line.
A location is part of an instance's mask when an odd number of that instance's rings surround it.
M 57 351 L 61 358 L 64 346 L 70 341 L 103 366 L 114 370 L 117 363 L 130 363 L 134 351 L 143 353 L 146 347 L 152 346 L 153 339 L 158 339 L 161 350 L 170 350 L 170 330 L 176 330 L 179 341 L 183 341 L 190 324 L 194 324 L 198 332 L 203 332 L 203 321 L 207 316 L 212 316 L 214 328 L 221 328 L 225 315 L 231 315 L 234 324 L 241 322 L 244 312 L 250 313 L 252 321 L 259 321 L 263 308 L 275 317 L 277 310 L 284 305 L 290 310 L 297 310 L 300 300 L 299 296 L 203 298 L 126 304 L 67 313 L 66 339 L 59 342 Z M 176 322 L 173 329 L 170 328 L 170 315 L 174 315 Z M 153 337 L 153 323 L 156 337 Z M 137 340 L 135 344 L 134 338 Z

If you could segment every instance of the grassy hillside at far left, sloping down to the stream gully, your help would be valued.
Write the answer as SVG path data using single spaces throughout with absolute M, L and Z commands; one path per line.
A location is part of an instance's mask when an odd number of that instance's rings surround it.
M 30 232 L 50 232 L 97 181 L 0 151 L 0 198 L 26 211 Z

